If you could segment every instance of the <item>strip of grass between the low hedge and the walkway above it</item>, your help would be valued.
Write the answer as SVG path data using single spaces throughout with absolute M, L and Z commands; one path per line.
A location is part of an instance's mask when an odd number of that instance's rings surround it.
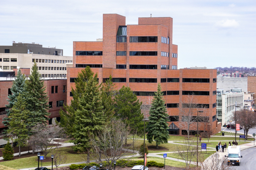
M 143 159 L 138 159 L 137 157 L 134 157 L 134 158 L 132 158 L 132 160 L 143 160 Z M 164 158 L 148 156 L 147 161 L 156 161 L 159 163 L 164 163 Z M 172 167 L 183 167 L 183 168 L 186 167 L 186 163 L 184 163 L 184 162 L 173 161 L 173 160 L 169 160 L 169 159 L 165 159 L 165 165 L 172 166 Z

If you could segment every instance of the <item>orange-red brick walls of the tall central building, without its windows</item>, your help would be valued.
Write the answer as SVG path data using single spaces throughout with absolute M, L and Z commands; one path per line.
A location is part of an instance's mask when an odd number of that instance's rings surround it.
M 203 116 L 209 116 L 210 124 L 214 132 L 220 131 L 220 124 L 212 119 L 216 116 L 216 70 L 212 69 L 172 69 L 177 66 L 178 46 L 172 44 L 173 19 L 170 17 L 163 18 L 139 18 L 138 25 L 126 25 L 127 35 L 126 42 L 117 42 L 117 32 L 119 26 L 125 26 L 125 17 L 118 14 L 103 14 L 103 42 L 73 42 L 73 68 L 67 68 L 67 103 L 70 104 L 71 87 L 74 88 L 74 82 L 70 78 L 77 77 L 79 71 L 83 68 L 77 68 L 76 64 L 102 64 L 102 68 L 92 68 L 94 73 L 97 72 L 99 83 L 103 78 L 112 75 L 113 78 L 126 78 L 126 82 L 116 82 L 117 89 L 123 85 L 129 86 L 135 92 L 155 92 L 157 84 L 161 78 L 178 78 L 179 82 L 162 82 L 162 91 L 179 91 L 179 95 L 165 95 L 166 103 L 180 104 L 186 95 L 182 91 L 207 91 L 209 95 L 195 96 L 198 104 L 208 104 L 209 109 L 204 111 Z M 130 37 L 157 37 L 157 42 L 130 42 Z M 162 43 L 162 37 L 169 38 L 168 43 Z M 102 51 L 102 56 L 95 55 L 76 55 L 76 51 Z M 126 55 L 117 55 L 117 51 L 125 51 Z M 153 56 L 134 56 L 130 51 L 157 51 Z M 169 53 L 169 56 L 162 56 L 161 52 Z M 172 54 L 176 54 L 173 57 Z M 117 69 L 116 65 L 126 65 L 126 69 Z M 157 65 L 157 69 L 130 69 L 129 65 Z M 169 69 L 161 69 L 161 65 L 166 65 Z M 129 78 L 154 78 L 157 82 L 129 82 Z M 183 78 L 206 78 L 210 81 L 204 82 L 182 82 Z M 152 96 L 137 96 L 146 105 Z M 150 104 L 150 102 L 149 102 Z M 167 108 L 170 116 L 178 116 L 178 108 Z M 143 110 L 145 111 L 145 110 Z M 148 116 L 148 113 L 144 113 Z M 196 116 L 196 115 L 195 115 Z M 181 121 L 181 117 L 179 118 Z M 213 120 L 213 121 L 212 121 Z M 171 124 L 172 122 L 168 122 Z M 179 122 L 174 122 L 179 127 Z M 180 128 L 180 134 L 183 127 Z M 199 122 L 199 129 L 203 130 L 202 123 Z M 195 129 L 192 129 L 195 130 Z

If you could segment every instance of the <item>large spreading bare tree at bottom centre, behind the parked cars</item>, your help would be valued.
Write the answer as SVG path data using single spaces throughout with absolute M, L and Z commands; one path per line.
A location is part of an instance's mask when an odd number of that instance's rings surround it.
M 92 148 L 91 154 L 95 155 L 99 162 L 104 159 L 107 162 L 107 169 L 111 170 L 113 161 L 131 154 L 129 150 L 132 149 L 132 145 L 125 146 L 125 139 L 128 135 L 129 129 L 124 122 L 117 119 L 110 120 L 98 132 L 97 136 L 89 136 Z

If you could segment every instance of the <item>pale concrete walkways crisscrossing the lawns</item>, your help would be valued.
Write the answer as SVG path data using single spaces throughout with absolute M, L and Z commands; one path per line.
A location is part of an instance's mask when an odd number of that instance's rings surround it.
M 248 136 L 252 136 L 251 134 L 248 134 Z M 235 137 L 235 136 L 212 136 L 212 137 Z M 142 139 L 143 140 L 143 139 Z M 225 141 L 225 140 L 222 140 L 222 141 Z M 179 143 L 176 143 L 176 142 L 182 142 L 182 141 L 168 141 L 168 143 L 171 143 L 171 144 L 179 144 Z M 208 140 L 206 140 L 206 141 L 201 141 L 201 143 L 202 142 L 205 142 L 205 143 L 208 143 Z M 217 140 L 214 140 L 214 141 L 212 141 L 211 140 L 211 142 L 219 142 L 219 141 L 217 141 Z M 250 141 L 247 141 L 247 142 L 250 142 Z M 74 144 L 73 143 L 61 143 L 62 144 L 62 146 L 60 146 L 60 147 L 67 147 L 67 146 L 73 146 Z M 181 145 L 184 145 L 184 144 L 181 144 Z M 250 142 L 250 143 L 247 143 L 247 144 L 242 144 L 242 145 L 239 145 L 240 147 L 241 147 L 241 150 L 244 150 L 244 149 L 247 149 L 247 148 L 251 148 L 251 147 L 254 147 L 255 145 L 253 145 L 253 142 Z M 199 146 L 199 147 L 201 147 L 201 146 Z M 215 149 L 215 147 L 213 148 L 213 147 L 207 147 L 208 149 L 210 149 L 209 151 L 216 151 L 216 149 Z M 201 150 L 198 150 L 198 151 L 201 151 Z M 30 151 L 30 152 L 32 152 L 32 150 Z M 132 152 L 132 150 L 131 150 L 131 152 Z M 27 153 L 27 151 L 25 151 L 25 152 L 21 152 L 21 154 L 25 154 L 25 153 Z M 149 153 L 149 155 L 148 156 L 151 156 L 151 157 L 159 157 L 159 158 L 163 158 L 163 156 L 161 156 L 161 155 L 159 155 L 159 154 L 164 154 L 164 153 L 177 153 L 177 151 L 174 151 L 174 152 L 158 152 L 158 153 Z M 224 160 L 225 160 L 225 157 L 224 157 L 224 155 L 226 155 L 227 154 L 227 152 L 218 152 L 218 153 L 216 153 L 216 154 L 213 154 L 213 156 L 217 156 L 218 157 L 218 160 L 219 160 L 219 162 L 220 163 L 222 163 Z M 19 155 L 19 153 L 15 153 L 14 154 L 15 156 L 16 155 Z M 134 156 L 139 156 L 138 154 L 135 154 Z M 129 156 L 127 156 L 127 157 L 129 157 Z M 0 157 L 0 160 L 2 160 L 3 159 L 3 157 Z M 168 160 L 173 160 L 173 161 L 180 161 L 180 162 L 184 162 L 184 163 L 186 163 L 186 161 L 185 160 L 181 160 L 181 159 L 176 159 L 176 158 L 172 158 L 172 157 L 166 157 L 166 159 L 168 159 Z M 210 157 L 208 157 L 205 161 L 204 161 L 204 163 L 205 162 L 209 162 L 210 161 Z M 90 162 L 94 162 L 94 160 L 90 160 Z M 74 163 L 66 163 L 66 164 L 61 164 L 61 165 L 59 165 L 59 167 L 65 167 L 65 166 L 70 166 L 71 164 L 82 164 L 82 163 L 85 163 L 84 161 L 83 162 L 74 162 Z M 196 165 L 196 162 L 191 162 L 191 164 L 194 164 L 194 165 Z M 47 167 L 47 168 L 52 168 L 52 166 L 44 166 L 44 167 Z M 55 166 L 54 166 L 55 167 Z M 37 167 L 31 167 L 31 168 L 23 168 L 23 169 L 20 169 L 20 170 L 34 170 L 35 168 L 37 168 Z

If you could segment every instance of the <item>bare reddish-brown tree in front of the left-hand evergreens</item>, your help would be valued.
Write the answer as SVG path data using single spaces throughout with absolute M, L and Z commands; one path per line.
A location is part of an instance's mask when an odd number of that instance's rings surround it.
M 34 143 L 35 147 L 43 149 L 45 157 L 47 154 L 58 148 L 59 142 L 54 142 L 55 138 L 64 138 L 64 130 L 62 127 L 54 125 L 38 124 L 33 128 L 33 135 L 30 137 L 30 143 Z M 54 146 L 57 144 L 57 146 Z

